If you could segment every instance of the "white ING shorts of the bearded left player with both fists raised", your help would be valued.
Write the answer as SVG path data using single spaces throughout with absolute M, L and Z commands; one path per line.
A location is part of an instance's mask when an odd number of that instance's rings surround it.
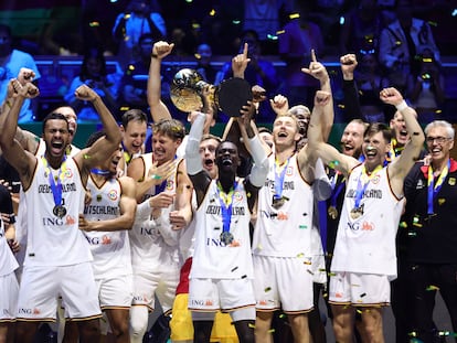
M 102 317 L 92 262 L 60 267 L 24 267 L 18 319 L 55 321 L 61 296 L 70 319 Z

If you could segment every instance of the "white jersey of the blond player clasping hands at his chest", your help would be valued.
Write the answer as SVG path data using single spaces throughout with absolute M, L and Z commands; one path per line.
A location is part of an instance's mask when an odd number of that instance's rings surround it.
M 145 163 L 145 174 L 147 178 L 149 168 L 152 165 L 152 153 L 146 153 L 139 159 Z M 180 162 L 179 162 L 180 163 Z M 178 164 L 177 163 L 177 168 Z M 152 186 L 144 197 L 144 201 L 160 193 L 176 193 L 177 171 L 171 173 L 170 178 L 161 186 Z M 129 233 L 131 264 L 135 269 L 148 270 L 151 272 L 169 268 L 170 265 L 178 266 L 179 262 L 179 231 L 171 228 L 169 214 L 174 210 L 171 204 L 167 208 L 161 210 L 161 215 L 157 219 L 151 216 L 146 218 L 139 217 L 138 213 L 135 224 Z

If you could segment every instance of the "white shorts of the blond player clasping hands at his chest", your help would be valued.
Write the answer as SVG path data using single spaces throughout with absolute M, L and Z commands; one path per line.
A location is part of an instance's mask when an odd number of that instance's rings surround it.
M 137 269 L 134 271 L 134 300 L 131 304 L 146 306 L 152 311 L 156 294 L 163 312 L 167 313 L 173 308 L 178 283 L 179 269 L 171 268 L 170 272 L 160 274 Z

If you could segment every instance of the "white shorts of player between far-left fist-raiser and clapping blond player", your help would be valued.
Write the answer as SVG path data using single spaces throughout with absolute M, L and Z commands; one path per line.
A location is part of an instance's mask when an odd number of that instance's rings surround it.
M 134 286 L 131 275 L 95 280 L 98 289 L 98 299 L 102 310 L 129 309 L 134 299 Z

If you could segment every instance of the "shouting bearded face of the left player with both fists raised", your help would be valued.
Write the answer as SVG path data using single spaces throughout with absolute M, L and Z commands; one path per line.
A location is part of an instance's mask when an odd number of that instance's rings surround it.
M 45 121 L 43 140 L 46 143 L 46 157 L 61 161 L 70 142 L 68 122 L 65 119 L 49 119 Z

